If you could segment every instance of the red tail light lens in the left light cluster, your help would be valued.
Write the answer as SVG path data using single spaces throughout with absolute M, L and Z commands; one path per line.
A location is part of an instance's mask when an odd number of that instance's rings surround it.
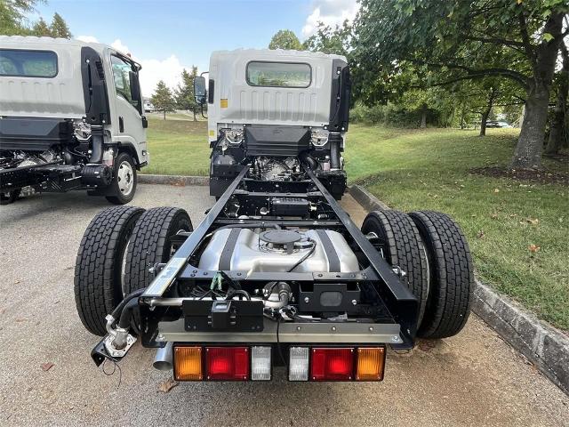
M 208 380 L 248 380 L 249 349 L 246 347 L 206 347 L 205 375 Z

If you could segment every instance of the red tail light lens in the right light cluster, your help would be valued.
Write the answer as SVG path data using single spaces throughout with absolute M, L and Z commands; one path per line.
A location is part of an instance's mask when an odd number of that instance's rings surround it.
M 354 349 L 312 349 L 312 381 L 345 381 L 354 376 Z

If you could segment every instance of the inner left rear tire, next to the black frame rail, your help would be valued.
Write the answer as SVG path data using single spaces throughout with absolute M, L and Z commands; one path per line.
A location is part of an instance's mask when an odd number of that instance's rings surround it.
M 188 213 L 178 207 L 148 209 L 132 232 L 124 258 L 124 294 L 147 287 L 154 279 L 149 269 L 172 257 L 172 236 L 194 230 Z

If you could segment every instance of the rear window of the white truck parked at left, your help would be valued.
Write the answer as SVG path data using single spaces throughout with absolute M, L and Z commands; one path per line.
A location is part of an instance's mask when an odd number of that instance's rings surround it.
M 0 49 L 0 76 L 57 76 L 57 54 L 52 51 Z

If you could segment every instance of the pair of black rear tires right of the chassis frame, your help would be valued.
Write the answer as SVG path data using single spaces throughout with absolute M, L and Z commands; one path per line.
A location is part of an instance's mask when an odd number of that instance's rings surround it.
M 433 211 L 368 214 L 362 232 L 373 238 L 419 302 L 417 335 L 446 338 L 469 318 L 474 272 L 469 245 L 453 219 Z

